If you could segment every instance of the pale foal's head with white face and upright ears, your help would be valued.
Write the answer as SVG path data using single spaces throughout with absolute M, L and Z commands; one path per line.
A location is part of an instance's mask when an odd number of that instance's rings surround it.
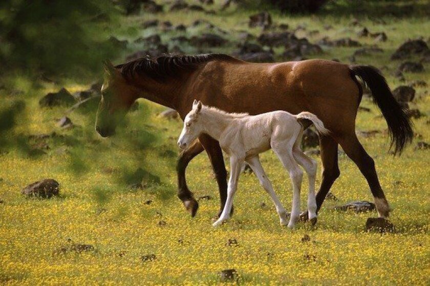
M 202 111 L 202 102 L 194 100 L 191 111 L 185 116 L 184 127 L 178 139 L 178 146 L 181 149 L 187 148 L 202 133 L 202 124 L 200 112 Z

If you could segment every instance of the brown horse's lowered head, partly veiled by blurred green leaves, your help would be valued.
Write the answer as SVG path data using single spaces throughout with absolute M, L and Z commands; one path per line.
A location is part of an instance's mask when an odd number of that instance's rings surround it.
M 104 62 L 104 71 L 95 127 L 102 137 L 108 137 L 115 134 L 118 122 L 138 98 L 139 90 L 128 83 L 110 61 Z

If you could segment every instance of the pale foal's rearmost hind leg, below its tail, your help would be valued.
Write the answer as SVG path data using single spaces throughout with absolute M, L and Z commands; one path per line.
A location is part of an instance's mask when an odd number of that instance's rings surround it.
M 316 161 L 306 156 L 300 149 L 300 141 L 294 144 L 293 156 L 300 166 L 306 170 L 309 180 L 309 194 L 308 194 L 308 218 L 312 225 L 316 224 L 316 199 L 315 199 L 315 178 L 316 178 Z M 296 143 L 297 143 L 296 142 Z

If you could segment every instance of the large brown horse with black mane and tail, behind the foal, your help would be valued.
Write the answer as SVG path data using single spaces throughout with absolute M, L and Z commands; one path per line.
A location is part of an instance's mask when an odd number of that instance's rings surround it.
M 355 117 L 362 96 L 356 76 L 369 87 L 381 109 L 395 153 L 401 153 L 413 137 L 410 119 L 394 99 L 385 78 L 367 65 L 348 65 L 312 59 L 282 63 L 249 63 L 222 54 L 142 58 L 125 64 L 105 62 L 106 78 L 97 111 L 96 130 L 103 136 L 115 133 L 117 119 L 138 98 L 171 107 L 182 119 L 194 99 L 229 113 L 251 115 L 275 110 L 292 114 L 308 111 L 331 130 L 320 137 L 322 182 L 316 195 L 319 210 L 330 187 L 339 177 L 338 144 L 358 166 L 375 198 L 379 216 L 387 217 L 390 207 L 379 184 L 373 159 L 355 134 Z M 227 196 L 226 169 L 219 143 L 207 135 L 183 151 L 177 164 L 178 196 L 192 216 L 198 203 L 185 181 L 189 161 L 208 153 L 219 185 L 221 207 Z M 307 212 L 306 212 L 307 213 Z

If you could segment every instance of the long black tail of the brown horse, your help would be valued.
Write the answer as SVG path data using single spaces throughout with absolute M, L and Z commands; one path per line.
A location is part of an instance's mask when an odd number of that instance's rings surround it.
M 394 154 L 403 151 L 406 143 L 412 142 L 414 131 L 406 109 L 400 106 L 391 93 L 390 87 L 380 71 L 370 65 L 351 65 L 351 75 L 358 76 L 369 87 L 374 102 L 381 109 L 391 137 L 390 148 L 394 145 Z

